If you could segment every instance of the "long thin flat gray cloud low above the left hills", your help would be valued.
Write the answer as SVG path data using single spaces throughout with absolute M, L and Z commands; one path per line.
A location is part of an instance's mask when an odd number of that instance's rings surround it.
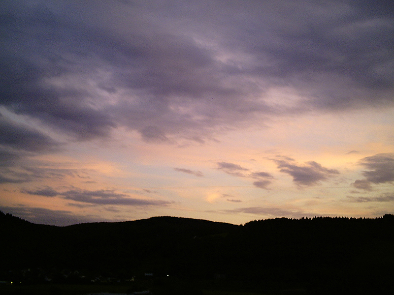
M 130 198 L 127 194 L 117 193 L 115 190 L 82 190 L 71 189 L 65 192 L 58 192 L 53 188 L 46 186 L 36 190 L 22 190 L 23 193 L 30 195 L 40 195 L 44 197 L 60 196 L 65 200 L 72 200 L 80 203 L 95 205 L 120 205 L 120 206 L 168 206 L 171 202 L 153 199 L 135 199 Z

